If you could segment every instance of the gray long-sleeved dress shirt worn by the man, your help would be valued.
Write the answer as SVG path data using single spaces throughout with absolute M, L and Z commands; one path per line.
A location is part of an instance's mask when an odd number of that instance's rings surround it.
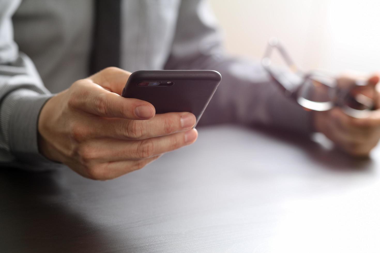
M 90 74 L 93 5 L 92 0 L 0 0 L 3 165 L 55 166 L 38 153 L 38 115 L 52 94 Z M 284 97 L 258 62 L 223 52 L 220 29 L 205 1 L 122 0 L 120 11 L 121 68 L 214 69 L 222 74 L 200 124 L 311 131 L 310 113 Z

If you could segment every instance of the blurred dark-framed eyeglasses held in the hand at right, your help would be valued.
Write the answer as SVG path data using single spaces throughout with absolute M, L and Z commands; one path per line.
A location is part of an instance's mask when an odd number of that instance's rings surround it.
M 272 66 L 272 53 L 277 49 L 286 68 Z M 328 111 L 340 107 L 350 116 L 366 118 L 374 110 L 376 90 L 365 80 L 338 82 L 334 77 L 317 71 L 304 73 L 277 38 L 269 40 L 261 61 L 264 69 L 285 93 L 306 110 Z

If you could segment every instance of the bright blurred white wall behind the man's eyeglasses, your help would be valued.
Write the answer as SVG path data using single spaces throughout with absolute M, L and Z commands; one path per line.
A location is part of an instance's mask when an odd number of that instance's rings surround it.
M 380 71 L 380 1 L 210 0 L 230 53 L 261 58 L 278 37 L 303 69 Z

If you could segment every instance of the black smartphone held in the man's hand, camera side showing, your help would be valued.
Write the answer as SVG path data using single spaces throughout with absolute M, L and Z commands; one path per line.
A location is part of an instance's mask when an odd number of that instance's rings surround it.
M 222 76 L 214 70 L 140 70 L 121 96 L 150 102 L 156 113 L 191 112 L 198 123 Z

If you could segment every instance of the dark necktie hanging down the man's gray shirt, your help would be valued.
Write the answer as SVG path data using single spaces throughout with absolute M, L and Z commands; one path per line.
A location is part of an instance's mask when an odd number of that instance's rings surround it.
M 95 0 L 90 74 L 120 66 L 120 2 Z

